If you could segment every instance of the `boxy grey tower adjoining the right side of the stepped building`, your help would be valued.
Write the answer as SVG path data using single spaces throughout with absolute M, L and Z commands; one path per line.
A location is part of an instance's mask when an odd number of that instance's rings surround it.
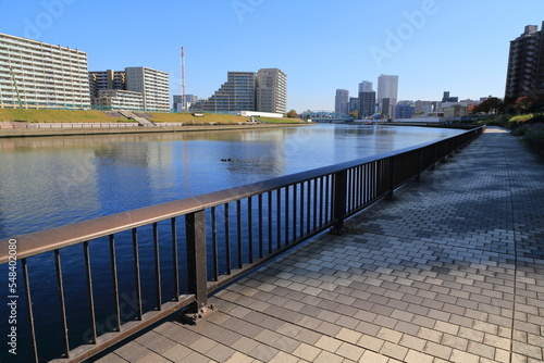
M 287 112 L 287 75 L 279 68 L 257 72 L 256 111 Z

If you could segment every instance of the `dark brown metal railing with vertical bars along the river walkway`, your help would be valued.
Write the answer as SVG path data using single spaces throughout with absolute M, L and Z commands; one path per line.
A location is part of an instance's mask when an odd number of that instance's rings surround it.
M 482 133 L 0 241 L 0 265 L 16 260 L 20 268 L 32 359 L 44 359 L 39 306 L 55 315 L 46 334 L 61 336 L 52 356 L 60 362 L 83 361 L 183 308 L 198 318 L 210 293 L 317 234 L 342 233 L 347 217 L 392 198 Z M 48 266 L 49 284 L 35 286 Z M 75 337 L 74 324 L 84 325 Z

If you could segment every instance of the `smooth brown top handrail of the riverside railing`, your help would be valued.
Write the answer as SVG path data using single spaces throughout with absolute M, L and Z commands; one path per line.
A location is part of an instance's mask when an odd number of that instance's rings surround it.
M 477 127 L 482 128 L 482 127 Z M 467 130 L 462 134 L 473 132 Z M 460 135 L 462 135 L 460 134 Z M 304 183 L 316 177 L 346 171 L 350 167 L 364 165 L 386 158 L 401 155 L 424 147 L 444 142 L 459 135 L 454 135 L 438 140 L 423 142 L 417 146 L 393 150 L 371 157 L 356 159 L 338 164 L 322 166 L 310 171 L 299 172 L 272 179 L 264 179 L 228 189 L 212 191 L 196 197 L 188 197 L 145 206 L 132 211 L 121 212 L 83 222 L 53 227 L 40 231 L 14 236 L 0 240 L 0 245 L 8 243 L 10 239 L 17 241 L 17 258 L 25 259 L 48 251 L 53 251 L 72 245 L 89 241 L 119 231 L 164 221 L 171 217 L 189 214 L 211 206 L 218 206 L 227 202 L 257 196 L 271 190 L 283 188 L 293 184 Z M 8 251 L 0 251 L 0 264 L 9 261 Z

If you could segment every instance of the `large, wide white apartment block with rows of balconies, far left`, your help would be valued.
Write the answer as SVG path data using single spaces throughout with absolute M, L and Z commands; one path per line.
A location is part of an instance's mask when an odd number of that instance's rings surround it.
M 90 108 L 87 53 L 0 34 L 0 108 Z

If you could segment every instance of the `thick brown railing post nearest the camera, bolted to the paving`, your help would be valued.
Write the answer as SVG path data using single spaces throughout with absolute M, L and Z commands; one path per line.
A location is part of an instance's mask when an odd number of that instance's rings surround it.
M 206 218 L 205 211 L 185 215 L 187 236 L 187 277 L 189 293 L 195 295 L 195 302 L 189 306 L 184 320 L 190 324 L 213 313 L 214 306 L 208 306 L 208 272 L 206 266 Z

